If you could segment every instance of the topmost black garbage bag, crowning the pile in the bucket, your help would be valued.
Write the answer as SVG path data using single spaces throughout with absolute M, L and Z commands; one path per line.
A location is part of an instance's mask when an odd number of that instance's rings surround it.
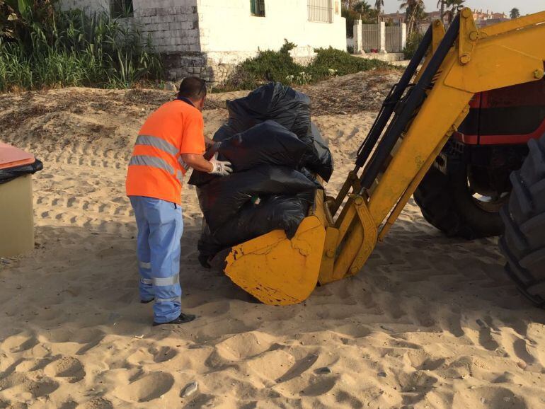
M 260 86 L 244 98 L 228 100 L 226 105 L 227 127 L 235 133 L 265 120 L 278 122 L 300 139 L 305 139 L 310 129 L 310 98 L 279 82 Z

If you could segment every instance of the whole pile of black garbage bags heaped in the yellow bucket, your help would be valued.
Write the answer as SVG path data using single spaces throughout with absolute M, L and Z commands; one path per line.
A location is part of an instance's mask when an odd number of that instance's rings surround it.
M 219 177 L 193 171 L 205 217 L 200 261 L 224 248 L 276 229 L 292 238 L 314 204 L 316 175 L 328 181 L 333 159 L 311 123 L 304 93 L 268 83 L 244 98 L 227 101 L 229 121 L 214 134 L 210 159 L 230 161 L 234 172 Z

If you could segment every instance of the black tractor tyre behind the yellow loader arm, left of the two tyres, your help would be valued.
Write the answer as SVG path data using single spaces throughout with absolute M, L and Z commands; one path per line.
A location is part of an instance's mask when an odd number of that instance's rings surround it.
M 472 197 L 467 167 L 458 166 L 445 175 L 432 166 L 414 192 L 424 218 L 448 237 L 499 236 L 503 223 L 498 209 L 483 209 Z

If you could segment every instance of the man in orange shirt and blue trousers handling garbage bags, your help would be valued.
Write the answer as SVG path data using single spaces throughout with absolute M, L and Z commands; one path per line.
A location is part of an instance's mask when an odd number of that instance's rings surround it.
M 138 134 L 127 171 L 127 196 L 136 217 L 137 257 L 142 303 L 154 303 L 154 326 L 188 323 L 181 311 L 181 194 L 188 168 L 229 175 L 231 163 L 207 161 L 202 108 L 206 82 L 188 77 L 178 98 L 152 113 Z

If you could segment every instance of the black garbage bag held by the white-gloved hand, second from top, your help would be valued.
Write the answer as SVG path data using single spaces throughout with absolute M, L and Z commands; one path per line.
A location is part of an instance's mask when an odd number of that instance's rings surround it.
M 275 121 L 267 120 L 246 132 L 217 142 L 212 147 L 220 161 L 231 162 L 234 172 L 248 171 L 260 165 L 297 168 L 306 151 L 304 142 Z M 210 156 L 212 155 L 205 155 Z M 190 185 L 202 186 L 217 176 L 193 171 Z

